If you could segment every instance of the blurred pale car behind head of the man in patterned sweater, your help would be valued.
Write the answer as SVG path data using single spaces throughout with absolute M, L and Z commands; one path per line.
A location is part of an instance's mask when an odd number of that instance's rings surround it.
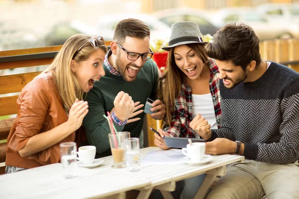
M 271 19 L 251 7 L 219 9 L 213 14 L 213 20 L 220 26 L 228 23 L 245 23 L 254 29 L 260 41 L 299 36 L 298 24 Z

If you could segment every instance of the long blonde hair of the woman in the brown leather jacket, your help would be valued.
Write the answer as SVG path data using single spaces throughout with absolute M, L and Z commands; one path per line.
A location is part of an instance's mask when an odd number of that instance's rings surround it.
M 76 51 L 90 38 L 90 36 L 84 34 L 75 34 L 70 37 L 63 44 L 51 65 L 43 71 L 43 73 L 52 72 L 59 96 L 66 112 L 70 110 L 76 98 L 78 98 L 78 100 L 83 100 L 84 94 L 80 89 L 76 75 L 71 70 L 71 61 L 85 61 L 89 58 L 90 54 L 98 48 L 102 49 L 105 53 L 107 52 L 105 42 L 97 39 L 97 48 L 91 46 L 90 43 L 87 43 L 76 53 Z

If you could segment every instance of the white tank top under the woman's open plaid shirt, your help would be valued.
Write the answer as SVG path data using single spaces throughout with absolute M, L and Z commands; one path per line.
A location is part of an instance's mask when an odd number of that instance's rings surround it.
M 208 120 L 209 124 L 211 124 L 211 129 L 218 129 L 211 93 L 204 95 L 192 94 L 192 119 L 198 113 Z M 195 133 L 195 137 L 199 138 L 199 135 Z

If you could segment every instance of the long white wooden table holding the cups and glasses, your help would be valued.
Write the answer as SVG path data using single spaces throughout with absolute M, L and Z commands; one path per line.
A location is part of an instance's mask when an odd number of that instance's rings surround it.
M 160 149 L 142 149 L 141 161 L 154 150 Z M 171 199 L 169 192 L 174 191 L 176 181 L 207 173 L 196 195 L 196 198 L 203 198 L 216 175 L 225 175 L 226 165 L 244 161 L 243 156 L 220 155 L 200 166 L 182 162 L 164 166 L 143 165 L 140 171 L 130 172 L 127 168 L 112 169 L 112 156 L 102 159 L 104 163 L 99 167 L 78 167 L 78 176 L 74 179 L 64 179 L 60 163 L 1 175 L 0 199 L 123 199 L 130 190 L 140 190 L 138 199 L 147 199 L 152 189 L 161 190 L 164 198 Z

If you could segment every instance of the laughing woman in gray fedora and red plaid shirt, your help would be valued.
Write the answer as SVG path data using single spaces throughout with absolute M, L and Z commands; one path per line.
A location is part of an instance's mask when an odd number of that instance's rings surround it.
M 166 107 L 166 117 L 160 135 L 199 138 L 189 126 L 201 114 L 211 129 L 220 127 L 219 71 L 214 60 L 205 52 L 199 27 L 194 22 L 177 22 L 171 25 L 169 51 L 164 75 L 159 80 L 159 99 Z M 157 147 L 167 150 L 165 141 L 155 134 Z M 205 175 L 185 180 L 183 199 L 194 198 Z

